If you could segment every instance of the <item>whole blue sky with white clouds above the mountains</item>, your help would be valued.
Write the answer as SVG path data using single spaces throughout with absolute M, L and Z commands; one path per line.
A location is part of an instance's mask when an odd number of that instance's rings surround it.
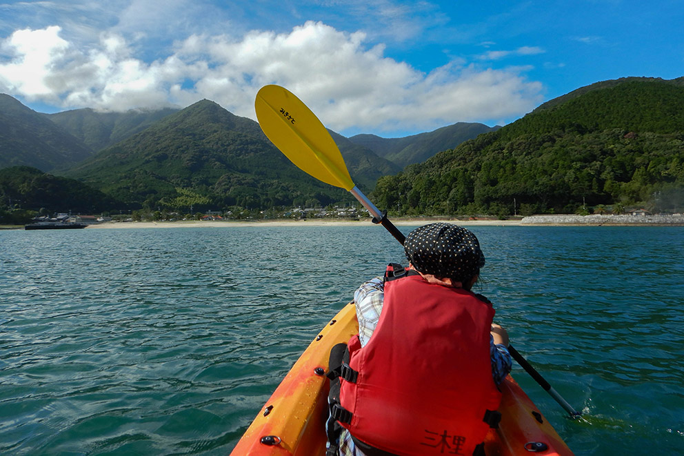
M 39 112 L 255 118 L 277 83 L 345 136 L 503 125 L 576 88 L 684 76 L 684 1 L 0 0 L 0 92 Z

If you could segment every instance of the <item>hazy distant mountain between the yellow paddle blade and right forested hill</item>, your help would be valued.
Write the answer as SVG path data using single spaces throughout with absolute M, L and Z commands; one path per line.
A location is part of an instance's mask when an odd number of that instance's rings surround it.
M 380 157 L 388 159 L 401 168 L 412 163 L 420 163 L 437 152 L 452 149 L 463 141 L 474 139 L 482 133 L 498 130 L 499 126 L 488 127 L 483 123 L 459 122 L 438 128 L 432 132 L 403 138 L 381 138 L 376 135 L 356 135 L 350 141 L 365 146 Z

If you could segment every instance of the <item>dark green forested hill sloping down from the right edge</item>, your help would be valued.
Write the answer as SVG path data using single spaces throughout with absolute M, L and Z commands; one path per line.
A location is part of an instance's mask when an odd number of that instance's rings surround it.
M 379 179 L 376 204 L 468 215 L 573 212 L 585 204 L 681 210 L 681 81 L 628 78 L 576 90 L 496 132 Z

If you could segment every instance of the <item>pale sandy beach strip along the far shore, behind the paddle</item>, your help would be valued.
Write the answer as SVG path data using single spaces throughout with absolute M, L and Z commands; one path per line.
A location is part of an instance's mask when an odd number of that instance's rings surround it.
M 416 226 L 431 224 L 436 221 L 445 221 L 461 226 L 517 226 L 520 220 L 459 220 L 459 219 L 391 219 L 396 226 Z M 372 226 L 370 219 L 364 220 L 252 220 L 252 221 L 108 221 L 102 224 L 90 225 L 92 229 L 111 228 L 237 228 L 241 226 Z

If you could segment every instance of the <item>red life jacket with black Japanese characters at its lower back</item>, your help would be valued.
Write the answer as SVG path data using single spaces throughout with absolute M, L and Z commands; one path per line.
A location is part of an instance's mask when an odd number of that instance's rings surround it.
M 341 381 L 341 407 L 351 414 L 342 426 L 396 455 L 472 455 L 490 428 L 485 415 L 501 402 L 490 361 L 493 318 L 491 304 L 463 288 L 420 275 L 385 281 L 368 344 L 350 340 L 343 371 L 356 381 Z

